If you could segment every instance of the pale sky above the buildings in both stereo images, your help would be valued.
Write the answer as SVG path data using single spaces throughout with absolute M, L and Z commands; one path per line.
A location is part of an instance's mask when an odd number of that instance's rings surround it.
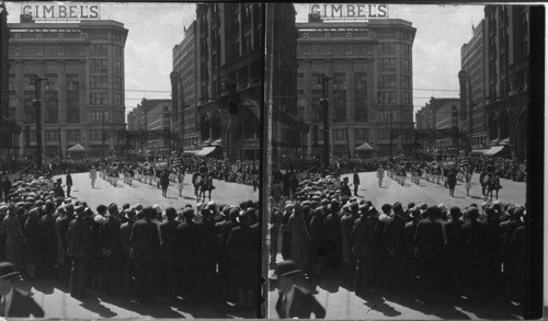
M 9 22 L 19 22 L 21 2 L 7 2 Z M 308 19 L 309 4 L 296 4 L 297 21 Z M 122 22 L 129 30 L 125 47 L 126 112 L 142 98 L 170 99 L 172 49 L 184 38 L 184 26 L 196 16 L 193 3 L 101 3 L 101 19 Z M 391 4 L 389 18 L 416 28 L 413 44 L 413 105 L 431 96 L 458 98 L 460 47 L 472 36 L 472 23 L 483 18 L 483 5 Z

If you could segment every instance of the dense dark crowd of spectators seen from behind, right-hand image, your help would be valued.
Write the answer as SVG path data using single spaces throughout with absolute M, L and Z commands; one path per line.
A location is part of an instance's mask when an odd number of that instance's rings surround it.
M 373 204 L 351 196 L 346 180 L 310 172 L 289 196 L 273 197 L 271 267 L 281 253 L 302 277 L 339 275 L 364 298 L 388 291 L 423 302 L 445 295 L 520 301 L 525 208 L 499 200 Z

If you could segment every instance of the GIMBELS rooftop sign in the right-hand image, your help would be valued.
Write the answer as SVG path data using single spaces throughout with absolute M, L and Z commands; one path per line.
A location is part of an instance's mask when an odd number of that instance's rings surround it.
M 388 18 L 388 4 L 317 3 L 310 4 L 310 13 L 328 20 Z

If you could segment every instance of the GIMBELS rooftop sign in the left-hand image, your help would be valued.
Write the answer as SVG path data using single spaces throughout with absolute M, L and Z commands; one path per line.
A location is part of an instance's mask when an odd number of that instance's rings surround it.
M 95 20 L 101 19 L 101 4 L 23 3 L 21 13 L 35 20 Z

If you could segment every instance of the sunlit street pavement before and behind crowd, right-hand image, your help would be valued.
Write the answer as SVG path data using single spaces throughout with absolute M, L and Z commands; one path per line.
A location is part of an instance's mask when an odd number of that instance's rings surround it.
M 401 186 L 396 181 L 385 177 L 383 187 L 379 187 L 376 172 L 358 173 L 358 175 L 362 182 L 358 188 L 359 198 L 372 200 L 373 205 L 379 210 L 383 204 L 393 204 L 396 202 L 400 202 L 403 206 L 407 206 L 410 202 L 414 202 L 415 204 L 425 202 L 429 205 L 443 203 L 447 207 L 456 205 L 461 208 L 469 206 L 471 203 L 481 205 L 483 202 L 481 186 L 478 183 L 478 174 L 472 177 L 473 183 L 470 196 L 466 196 L 464 183 L 458 182 L 455 188 L 455 197 L 450 197 L 449 191 L 443 185 L 430 183 L 424 180 L 421 180 L 419 186 L 411 183 L 410 180 L 407 180 L 404 186 Z M 352 183 L 353 174 L 344 176 L 349 176 L 349 181 Z M 525 183 L 501 180 L 501 185 L 503 186 L 499 193 L 501 202 L 525 204 Z M 353 186 L 351 186 L 351 190 L 354 191 Z M 281 241 L 282 237 L 279 237 Z M 282 249 L 281 244 L 278 249 Z M 277 261 L 282 261 L 281 254 L 277 255 Z M 271 275 L 273 272 L 273 270 L 270 270 Z M 299 286 L 315 294 L 318 301 L 326 308 L 326 319 L 521 319 L 522 308 L 500 301 L 479 306 L 466 300 L 456 301 L 454 298 L 439 296 L 432 299 L 430 305 L 423 305 L 416 301 L 412 295 L 398 297 L 388 293 L 378 293 L 364 299 L 355 296 L 352 288 L 344 284 L 341 277 L 343 273 L 342 270 L 332 271 L 326 273 L 321 279 L 299 279 L 298 282 Z M 277 318 L 275 305 L 278 294 L 274 287 L 274 283 L 271 283 L 269 295 L 270 318 Z

